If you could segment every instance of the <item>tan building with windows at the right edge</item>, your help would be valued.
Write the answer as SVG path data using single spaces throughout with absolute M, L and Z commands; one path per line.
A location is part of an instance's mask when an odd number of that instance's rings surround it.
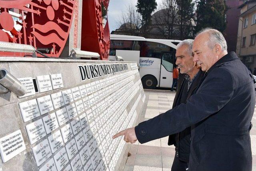
M 256 0 L 245 1 L 238 9 L 240 9 L 240 16 L 238 16 L 236 54 L 254 72 L 256 68 Z

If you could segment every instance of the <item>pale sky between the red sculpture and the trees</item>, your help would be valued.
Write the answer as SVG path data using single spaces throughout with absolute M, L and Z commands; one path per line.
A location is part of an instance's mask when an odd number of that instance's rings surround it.
M 156 0 L 159 4 L 162 0 Z M 118 28 L 117 21 L 122 16 L 122 11 L 126 10 L 129 3 L 136 4 L 137 0 L 110 0 L 108 6 L 108 22 L 110 33 Z

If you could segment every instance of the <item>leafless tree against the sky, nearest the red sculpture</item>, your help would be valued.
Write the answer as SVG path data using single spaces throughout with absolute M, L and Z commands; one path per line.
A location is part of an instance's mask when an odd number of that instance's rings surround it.
M 141 19 L 141 14 L 138 13 L 136 11 L 136 7 L 130 3 L 128 6 L 126 6 L 126 11 L 122 12 L 122 16 L 117 22 L 119 29 L 117 29 L 116 32 L 132 36 L 139 36 L 140 28 L 142 26 Z

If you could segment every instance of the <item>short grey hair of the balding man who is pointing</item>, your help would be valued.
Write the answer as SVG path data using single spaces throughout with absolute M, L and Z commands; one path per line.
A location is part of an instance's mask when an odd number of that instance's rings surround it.
M 196 36 L 198 36 L 198 34 L 201 34 L 203 32 L 206 32 L 209 35 L 209 41 L 207 42 L 207 44 L 210 49 L 213 49 L 216 44 L 220 44 L 222 51 L 227 52 L 228 50 L 227 42 L 221 32 L 212 28 L 204 28 L 200 32 L 198 32 Z

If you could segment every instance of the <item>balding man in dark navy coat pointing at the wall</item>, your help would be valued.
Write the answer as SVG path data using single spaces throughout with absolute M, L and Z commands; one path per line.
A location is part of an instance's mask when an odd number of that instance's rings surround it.
M 135 128 L 113 136 L 140 143 L 191 126 L 190 171 L 251 171 L 251 119 L 255 92 L 252 74 L 218 30 L 204 30 L 193 43 L 194 62 L 206 71 L 196 93 Z

